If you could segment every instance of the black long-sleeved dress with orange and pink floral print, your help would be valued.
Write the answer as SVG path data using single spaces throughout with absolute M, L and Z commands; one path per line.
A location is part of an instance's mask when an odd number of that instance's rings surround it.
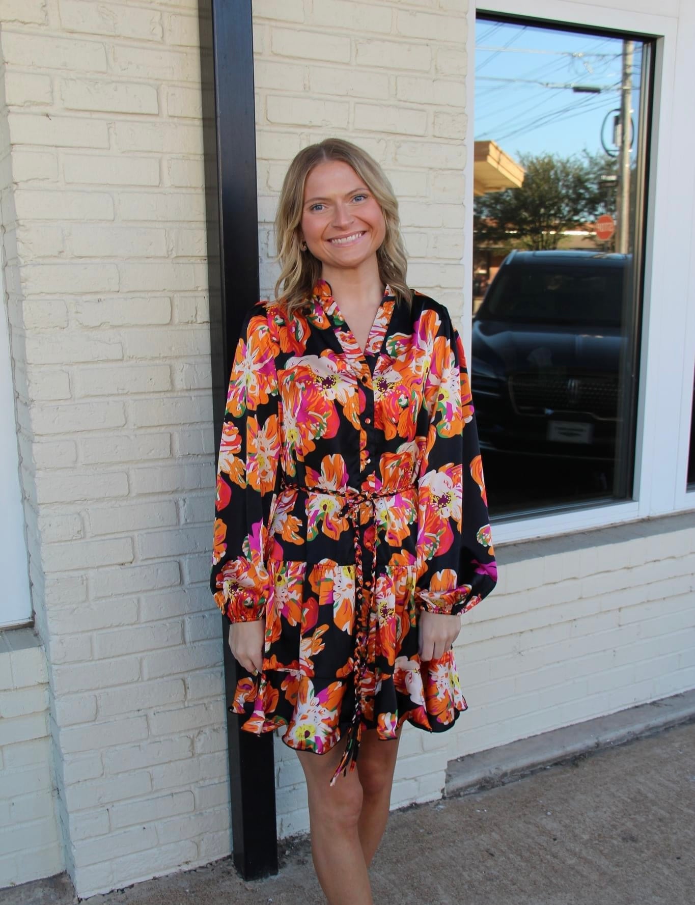
M 466 710 L 453 652 L 418 655 L 418 614 L 463 613 L 497 579 L 471 390 L 447 310 L 386 286 L 364 353 L 319 280 L 300 314 L 249 312 L 220 445 L 211 587 L 263 619 L 243 729 L 321 754 L 364 729 L 433 732 Z

